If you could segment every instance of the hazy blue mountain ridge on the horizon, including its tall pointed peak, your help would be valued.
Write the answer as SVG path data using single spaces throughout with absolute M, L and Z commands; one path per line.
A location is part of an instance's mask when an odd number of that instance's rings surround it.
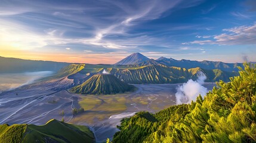
M 134 57 L 134 55 L 139 55 Z M 192 60 L 175 60 L 173 58 L 160 57 L 156 60 L 145 58 L 146 56 L 140 53 L 134 53 L 129 55 L 127 58 L 119 61 L 116 64 L 132 64 L 138 66 L 149 66 L 149 65 L 165 65 L 169 67 L 182 67 L 186 69 L 200 67 L 206 70 L 220 69 L 224 71 L 238 71 L 238 66 L 243 67 L 242 63 L 223 63 L 221 61 L 192 61 Z

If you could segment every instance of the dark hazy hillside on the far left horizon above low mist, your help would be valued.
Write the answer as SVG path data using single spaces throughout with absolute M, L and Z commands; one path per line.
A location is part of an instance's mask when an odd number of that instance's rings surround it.
M 23 73 L 32 71 L 58 71 L 70 63 L 54 61 L 22 60 L 0 57 L 0 73 Z

